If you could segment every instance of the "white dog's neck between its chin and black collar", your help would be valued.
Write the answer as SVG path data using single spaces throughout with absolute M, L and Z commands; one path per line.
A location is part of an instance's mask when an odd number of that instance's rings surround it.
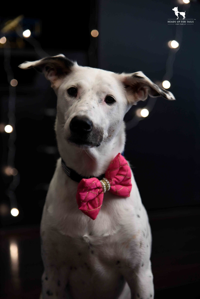
M 85 177 L 100 176 L 105 173 L 113 158 L 123 152 L 125 145 L 125 124 L 119 129 L 118 134 L 109 142 L 99 147 L 81 149 L 63 139 L 62 131 L 59 129 L 59 122 L 56 121 L 55 130 L 57 145 L 60 156 L 65 164 Z

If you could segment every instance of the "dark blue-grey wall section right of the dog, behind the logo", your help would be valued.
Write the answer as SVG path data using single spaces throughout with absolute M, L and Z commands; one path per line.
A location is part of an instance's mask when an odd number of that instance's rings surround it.
M 177 18 L 176 6 L 194 25 L 167 24 Z M 167 43 L 182 36 L 169 89 L 176 101 L 159 97 L 149 116 L 127 131 L 125 156 L 149 209 L 199 204 L 199 13 L 198 2 L 99 1 L 99 68 L 140 70 L 162 81 L 172 51 Z

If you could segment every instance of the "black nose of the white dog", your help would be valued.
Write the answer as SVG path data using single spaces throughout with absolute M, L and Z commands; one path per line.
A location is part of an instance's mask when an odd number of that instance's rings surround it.
M 69 124 L 69 129 L 73 133 L 87 134 L 93 129 L 92 121 L 86 116 L 75 116 Z

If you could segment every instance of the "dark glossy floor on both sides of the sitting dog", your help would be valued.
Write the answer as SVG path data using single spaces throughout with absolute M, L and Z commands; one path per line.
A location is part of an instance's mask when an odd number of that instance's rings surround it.
M 155 299 L 200 298 L 199 216 L 197 207 L 149 211 Z M 39 225 L 3 229 L 0 242 L 0 298 L 39 299 Z

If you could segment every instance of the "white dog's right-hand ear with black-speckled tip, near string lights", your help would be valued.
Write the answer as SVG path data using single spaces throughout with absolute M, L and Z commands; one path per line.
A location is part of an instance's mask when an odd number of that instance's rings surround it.
M 164 97 L 167 100 L 175 100 L 174 95 L 154 84 L 143 72 L 132 74 L 120 74 L 123 85 L 126 89 L 126 96 L 131 105 L 136 105 L 138 101 L 144 101 L 148 97 Z

